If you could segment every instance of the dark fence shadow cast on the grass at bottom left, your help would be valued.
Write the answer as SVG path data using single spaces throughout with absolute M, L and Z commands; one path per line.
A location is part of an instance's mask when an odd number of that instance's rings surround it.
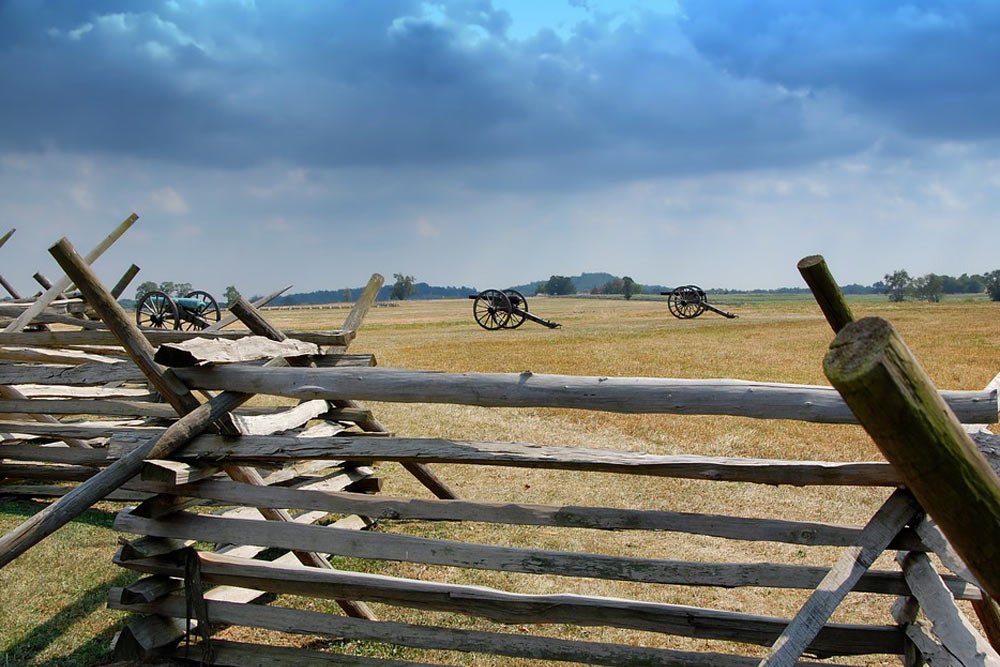
M 69 667 L 70 665 L 97 665 L 105 662 L 108 658 L 111 639 L 118 630 L 117 624 L 115 627 L 108 628 L 99 635 L 90 638 L 68 655 L 51 658 L 40 663 L 33 663 L 33 660 L 74 623 L 99 609 L 103 609 L 107 604 L 110 588 L 127 586 L 137 578 L 138 575 L 134 572 L 122 572 L 114 579 L 94 586 L 57 611 L 44 623 L 36 625 L 24 637 L 11 643 L 6 651 L 0 653 L 0 667 L 28 664 Z

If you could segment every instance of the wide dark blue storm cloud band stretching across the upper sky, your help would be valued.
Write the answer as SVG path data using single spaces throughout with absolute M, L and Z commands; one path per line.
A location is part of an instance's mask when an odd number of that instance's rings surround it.
M 713 18 L 716 6 L 688 7 L 686 21 L 603 17 L 566 38 L 519 40 L 511 16 L 484 1 L 8 0 L 0 150 L 223 167 L 443 163 L 494 170 L 484 181 L 626 179 L 857 151 L 880 130 L 845 112 L 855 100 L 898 108 L 902 122 L 929 131 L 935 109 L 995 97 L 995 82 L 976 92 L 985 75 L 947 66 L 946 76 L 939 64 L 942 96 L 907 115 L 913 102 L 893 101 L 886 79 L 917 42 L 888 18 L 876 21 L 883 32 L 857 38 L 868 5 L 799 16 L 731 2 Z M 876 19 L 903 11 L 873 7 Z M 918 14 L 913 22 L 930 20 Z M 822 31 L 818 41 L 809 31 Z M 958 28 L 939 33 L 949 37 L 936 49 L 955 47 L 966 64 L 996 48 L 962 43 Z M 916 55 L 931 63 L 937 50 Z M 873 62 L 883 51 L 895 60 Z M 996 58 L 983 67 L 995 70 Z M 922 70 L 904 71 L 914 82 L 897 88 L 915 98 Z M 995 130 L 982 108 L 964 118 L 961 132 Z

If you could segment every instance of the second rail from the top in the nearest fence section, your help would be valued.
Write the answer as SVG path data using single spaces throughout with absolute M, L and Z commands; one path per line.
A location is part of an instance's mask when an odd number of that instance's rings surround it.
M 125 451 L 137 440 L 124 433 L 112 436 L 112 452 Z M 348 461 L 407 461 L 468 463 L 557 470 L 587 470 L 620 474 L 680 477 L 715 481 L 850 486 L 897 486 L 900 477 L 885 463 L 783 461 L 691 455 L 660 455 L 584 447 L 558 447 L 506 442 L 472 442 L 442 438 L 335 436 L 244 436 L 238 440 L 216 435 L 194 439 L 174 456 L 184 459 L 282 461 L 341 459 Z

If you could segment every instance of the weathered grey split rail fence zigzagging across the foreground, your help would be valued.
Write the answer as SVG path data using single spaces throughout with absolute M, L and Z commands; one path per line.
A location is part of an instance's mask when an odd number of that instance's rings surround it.
M 359 299 L 339 332 L 280 332 L 252 306 L 240 303 L 234 311 L 259 338 L 229 343 L 178 340 L 135 329 L 127 314 L 116 310 L 117 304 L 89 271 L 88 262 L 67 242 L 60 242 L 52 252 L 107 326 L 102 333 L 108 338 L 85 344 L 117 344 L 119 354 L 128 359 L 39 358 L 32 363 L 5 364 L 0 367 L 4 373 L 0 383 L 19 386 L 22 393 L 29 386 L 52 386 L 45 378 L 62 387 L 124 390 L 132 388 L 131 383 L 149 386 L 140 387 L 146 392 L 142 396 L 4 398 L 0 412 L 8 414 L 38 415 L 44 409 L 50 416 L 88 414 L 117 421 L 31 424 L 23 418 L 8 418 L 0 425 L 0 430 L 21 434 L 16 444 L 0 445 L 0 474 L 13 478 L 20 470 L 22 479 L 80 482 L 73 492 L 0 538 L 0 566 L 97 499 L 126 492 L 141 500 L 115 520 L 118 530 L 139 536 L 121 547 L 115 562 L 147 575 L 112 590 L 109 596 L 112 607 L 136 614 L 117 640 L 118 657 L 165 654 L 223 665 L 411 664 L 212 636 L 219 626 L 236 625 L 414 650 L 602 665 L 812 664 L 803 663 L 803 656 L 813 661 L 901 656 L 908 665 L 921 661 L 966 667 L 1000 665 L 996 646 L 990 643 L 1000 640 L 992 602 L 1000 595 L 994 559 L 1000 539 L 993 540 L 996 534 L 990 532 L 1000 527 L 1000 480 L 996 476 L 1000 438 L 983 427 L 997 421 L 1000 376 L 982 391 L 938 392 L 920 375 L 919 367 L 914 370 L 908 365 L 912 362 L 908 350 L 891 327 L 881 321 L 851 322 L 849 311 L 831 314 L 816 287 L 824 312 L 839 331 L 826 360 L 836 389 L 740 380 L 374 368 L 372 357 L 350 355 L 347 345 L 381 284 L 377 276 L 369 284 L 368 297 Z M 837 305 L 832 297 L 830 303 L 831 308 Z M 8 341 L 0 334 L 0 345 L 66 349 L 67 341 L 77 340 L 70 334 L 79 338 L 80 333 L 18 334 L 16 340 L 30 339 L 31 343 Z M 875 339 L 889 352 L 871 354 Z M 325 347 L 314 349 L 310 344 Z M 153 346 L 159 347 L 154 350 Z M 79 348 L 77 353 L 84 354 Z M 888 376 L 902 378 L 904 388 L 880 385 L 866 374 L 869 367 L 882 368 L 894 360 L 903 370 Z M 108 387 L 109 383 L 122 384 Z M 165 403 L 152 401 L 150 387 Z M 197 399 L 195 393 L 203 398 Z M 236 409 L 255 395 L 299 403 L 277 412 Z M 880 399 L 878 409 L 866 411 L 873 395 Z M 359 400 L 475 405 L 499 411 L 531 406 L 733 415 L 828 424 L 860 419 L 887 460 L 763 460 L 645 454 L 613 447 L 404 438 L 389 433 Z M 887 416 L 880 416 L 881 412 Z M 163 421 L 149 423 L 148 419 Z M 29 436 L 61 439 L 62 444 L 43 444 Z M 900 454 L 898 447 L 893 448 L 901 439 L 912 446 L 911 453 Z M 931 444 L 925 447 L 927 442 Z M 945 454 L 932 458 L 936 452 Z M 379 489 L 372 482 L 371 466 L 382 461 L 405 466 L 436 498 L 375 494 Z M 881 487 L 886 499 L 865 525 L 856 526 L 631 507 L 495 503 L 458 498 L 429 467 L 439 463 L 718 483 Z M 957 476 L 964 481 L 954 482 L 952 488 L 950 467 L 961 466 L 965 467 Z M 40 472 L 43 469 L 50 472 Z M 58 472 L 51 473 L 52 469 Z M 265 475 L 276 475 L 280 481 L 270 483 Z M 945 481 L 935 482 L 934 475 Z M 950 491 L 929 493 L 928 485 L 933 483 L 948 486 Z M 11 486 L 0 487 L 5 488 Z M 953 497 L 963 488 L 974 490 L 967 505 L 959 505 Z M 726 493 L 723 490 L 719 495 Z M 331 517 L 340 518 L 316 524 Z M 541 526 L 568 532 L 587 528 L 643 531 L 662 533 L 664 539 L 669 533 L 684 533 L 802 548 L 837 547 L 842 555 L 831 567 L 611 556 L 419 537 L 398 529 L 413 520 Z M 970 521 L 976 526 L 974 531 Z M 371 530 L 375 525 L 378 530 Z M 976 539 L 969 539 L 970 532 L 976 533 Z M 898 552 L 898 567 L 871 569 L 887 549 Z M 565 593 L 513 593 L 335 568 L 331 556 L 515 572 L 573 584 L 567 583 Z M 763 587 L 811 593 L 800 612 L 789 619 L 587 592 L 586 582 L 601 580 L 637 587 Z M 880 624 L 830 622 L 852 591 L 889 596 L 895 600 L 892 617 Z M 336 601 L 346 616 L 261 604 L 281 594 Z M 972 602 L 986 638 L 956 600 Z M 473 626 L 475 619 L 486 619 L 516 630 L 384 620 L 376 618 L 368 603 L 431 614 L 447 612 L 471 619 Z M 618 643 L 550 636 L 545 628 L 557 624 L 610 627 L 636 636 Z M 642 633 L 766 650 L 761 651 L 762 657 L 753 657 L 736 651 L 648 647 L 639 645 Z M 193 646 L 178 645 L 185 635 L 194 638 Z

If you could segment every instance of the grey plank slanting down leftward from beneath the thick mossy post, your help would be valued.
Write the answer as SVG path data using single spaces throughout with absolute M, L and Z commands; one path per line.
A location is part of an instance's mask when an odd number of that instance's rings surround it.
M 759 667 L 794 665 L 841 601 L 865 578 L 875 559 L 918 512 L 920 506 L 909 491 L 894 491 L 865 526 L 858 545 L 848 547 L 823 577 Z

